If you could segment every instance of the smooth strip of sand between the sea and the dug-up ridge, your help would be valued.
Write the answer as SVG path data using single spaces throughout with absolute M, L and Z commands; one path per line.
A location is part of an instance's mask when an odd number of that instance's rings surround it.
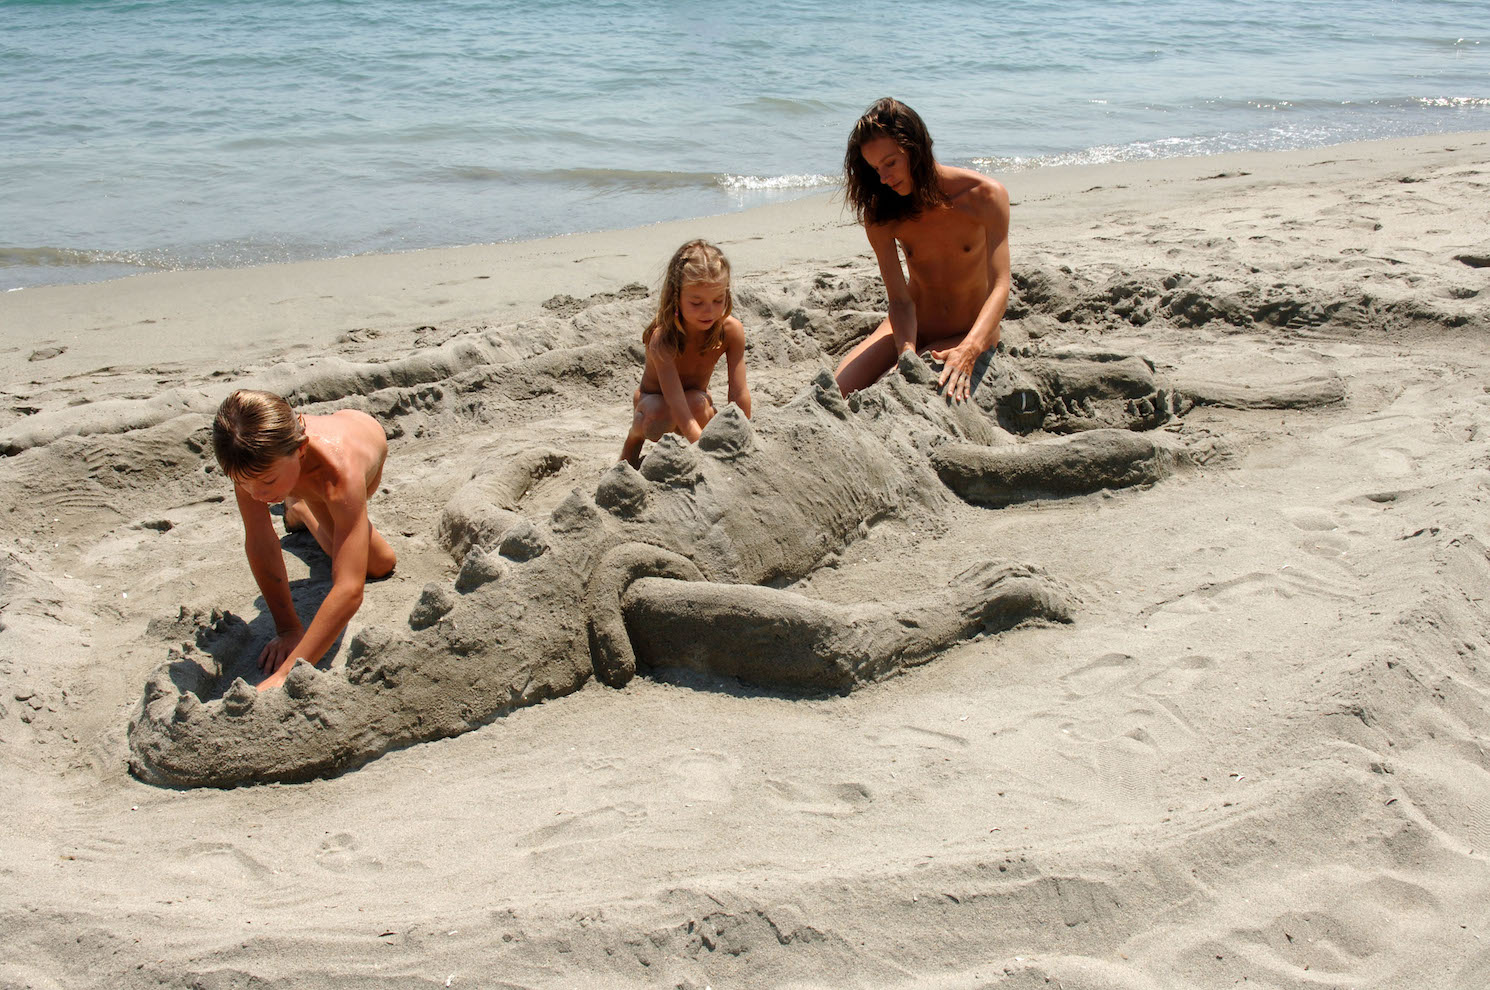
M 1189 180 L 1217 176 L 1264 185 L 1310 167 L 1332 167 L 1337 176 L 1366 174 L 1372 161 L 1487 137 L 1490 131 L 1462 131 L 1302 151 L 1059 165 L 995 177 L 1010 191 L 1018 267 L 1022 246 L 1059 239 L 1083 218 L 1134 203 L 1180 206 L 1208 194 L 1204 186 L 1185 185 Z M 1381 170 L 1390 171 L 1390 165 Z M 632 282 L 654 288 L 663 259 L 693 236 L 720 243 L 741 274 L 867 256 L 867 243 L 839 200 L 834 191 L 714 216 L 538 240 L 31 286 L 0 294 L 0 324 L 27 353 L 67 347 L 74 359 L 52 367 L 79 373 L 101 367 L 104 353 L 113 350 L 112 341 L 91 343 L 98 332 L 125 334 L 131 352 L 145 353 L 153 337 L 170 331 L 213 335 L 241 328 L 273 346 L 316 349 L 341 332 L 405 312 L 420 313 L 420 322 L 429 325 L 504 322 L 541 312 L 541 303 L 556 294 L 587 295 Z M 219 347 L 215 343 L 209 350 Z M 186 346 L 174 356 L 197 359 L 209 350 Z M 256 352 L 241 350 L 250 358 Z M 0 361 L 0 377 L 15 373 L 13 361 Z

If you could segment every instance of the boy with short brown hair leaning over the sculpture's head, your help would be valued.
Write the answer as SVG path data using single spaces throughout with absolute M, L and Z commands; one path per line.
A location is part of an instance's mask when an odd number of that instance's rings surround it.
M 367 413 L 297 416 L 273 392 L 240 389 L 224 400 L 212 447 L 232 480 L 243 516 L 243 549 L 279 635 L 259 653 L 267 677 L 285 681 L 295 660 L 314 663 L 362 605 L 370 577 L 386 577 L 393 547 L 368 522 L 368 498 L 383 480 L 387 435 Z M 331 558 L 331 592 L 310 628 L 299 625 L 270 505 L 285 502 L 285 528 L 308 529 Z

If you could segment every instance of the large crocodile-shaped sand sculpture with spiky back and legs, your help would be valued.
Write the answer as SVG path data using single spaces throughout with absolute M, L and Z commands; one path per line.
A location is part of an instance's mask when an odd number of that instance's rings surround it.
M 335 774 L 659 663 L 852 690 L 963 638 L 1070 619 L 1061 586 L 1016 564 L 974 567 L 909 602 L 842 607 L 779 590 L 876 519 L 954 495 L 1006 505 L 1153 483 L 1193 459 L 1183 437 L 1153 428 L 1196 400 L 1340 398 L 1329 380 L 1298 395 L 1182 392 L 1141 358 L 1094 352 L 1016 349 L 979 371 L 976 401 L 952 407 L 915 356 L 851 400 L 824 370 L 755 422 L 730 407 L 696 446 L 665 438 L 641 471 L 611 468 L 541 522 L 505 507 L 563 459 L 533 450 L 451 498 L 441 538 L 460 561 L 453 586 L 428 584 L 407 629 L 364 628 L 344 669 L 301 663 L 285 690 L 259 695 L 224 683 L 203 653 L 158 668 L 130 725 L 131 769 L 219 787 Z M 232 614 L 198 626 L 210 652 L 249 646 Z

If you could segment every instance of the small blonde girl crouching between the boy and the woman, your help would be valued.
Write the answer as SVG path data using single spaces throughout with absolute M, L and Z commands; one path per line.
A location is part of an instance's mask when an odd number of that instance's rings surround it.
M 730 376 L 729 401 L 749 416 L 745 328 L 730 316 L 730 262 L 714 245 L 690 240 L 668 262 L 657 315 L 642 332 L 647 367 L 632 398 L 636 414 L 621 459 L 639 467 L 642 441 L 666 432 L 688 443 L 714 419 L 709 377 L 720 358 Z

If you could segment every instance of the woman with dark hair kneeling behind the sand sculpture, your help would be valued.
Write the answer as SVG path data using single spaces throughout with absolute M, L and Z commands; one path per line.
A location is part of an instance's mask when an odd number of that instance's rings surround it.
M 945 362 L 937 388 L 966 400 L 973 364 L 998 344 L 1009 303 L 1009 192 L 985 174 L 937 163 L 925 124 L 891 98 L 854 124 L 843 173 L 848 201 L 879 261 L 890 313 L 839 362 L 839 389 L 855 392 L 906 350 L 930 349 Z

